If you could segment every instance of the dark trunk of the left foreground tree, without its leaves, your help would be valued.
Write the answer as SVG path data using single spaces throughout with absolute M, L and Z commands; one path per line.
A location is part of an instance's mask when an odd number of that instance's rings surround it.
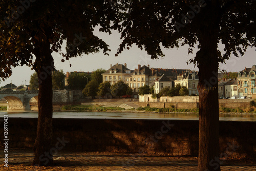
M 38 76 L 38 121 L 37 137 L 34 144 L 33 165 L 50 166 L 52 159 L 52 70 L 54 69 L 53 58 L 50 51 L 49 37 L 51 29 L 45 29 L 47 36 L 43 41 L 36 41 L 36 61 L 33 68 Z

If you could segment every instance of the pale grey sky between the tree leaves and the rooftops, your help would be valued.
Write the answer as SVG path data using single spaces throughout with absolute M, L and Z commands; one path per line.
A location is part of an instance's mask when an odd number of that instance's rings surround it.
M 194 68 L 194 64 L 186 65 L 186 61 L 191 58 L 194 58 L 197 52 L 195 48 L 193 54 L 188 53 L 188 46 L 181 46 L 178 49 L 164 49 L 162 48 L 165 57 L 163 59 L 151 59 L 150 56 L 143 50 L 141 51 L 135 44 L 130 50 L 125 50 L 118 57 L 115 57 L 120 40 L 120 34 L 113 32 L 112 35 L 107 33 L 95 32 L 95 34 L 104 40 L 107 44 L 110 45 L 109 52 L 110 56 L 103 55 L 102 52 L 91 55 L 83 55 L 82 57 L 72 58 L 69 61 L 61 62 L 63 58 L 59 54 L 52 54 L 54 57 L 55 67 L 57 70 L 63 69 L 63 71 L 93 71 L 97 68 L 109 69 L 110 64 L 114 65 L 127 64 L 127 68 L 135 69 L 138 68 L 138 64 L 150 65 L 154 68 L 176 68 L 176 69 L 191 69 L 198 70 Z M 243 57 L 237 58 L 231 56 L 229 60 L 226 61 L 226 64 L 220 64 L 220 70 L 226 69 L 226 71 L 241 71 L 245 67 L 249 68 L 252 65 L 256 64 L 256 52 L 255 48 L 247 48 L 247 51 Z M 69 64 L 72 64 L 70 67 Z M 28 66 L 17 66 L 12 69 L 12 76 L 5 81 L 1 81 L 0 87 L 5 86 L 6 84 L 13 83 L 16 86 L 22 84 L 29 84 L 30 76 L 33 74 L 34 70 L 31 70 L 31 67 Z

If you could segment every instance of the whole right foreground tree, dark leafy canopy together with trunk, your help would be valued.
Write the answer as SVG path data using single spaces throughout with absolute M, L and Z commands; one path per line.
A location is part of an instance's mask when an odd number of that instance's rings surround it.
M 122 43 L 116 56 L 132 44 L 144 48 L 153 59 L 164 56 L 162 47 L 186 44 L 188 54 L 198 47 L 195 58 L 189 60 L 199 68 L 198 170 L 220 170 L 220 164 L 212 164 L 219 156 L 219 62 L 231 54 L 242 56 L 248 46 L 256 46 L 256 1 L 118 2 L 124 15 L 119 30 Z

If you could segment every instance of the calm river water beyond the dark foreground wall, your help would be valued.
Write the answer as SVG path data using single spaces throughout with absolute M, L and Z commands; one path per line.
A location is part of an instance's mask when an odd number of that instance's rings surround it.
M 38 117 L 38 112 L 0 111 L 0 117 Z M 198 113 L 116 113 L 116 112 L 53 112 L 53 118 L 99 118 L 99 119 L 179 119 L 199 120 Z M 256 121 L 256 115 L 221 114 L 220 120 Z

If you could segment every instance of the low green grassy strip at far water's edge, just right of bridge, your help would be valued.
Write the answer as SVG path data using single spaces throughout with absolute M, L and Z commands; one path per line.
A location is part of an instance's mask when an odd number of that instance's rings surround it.
M 106 112 L 106 111 L 121 111 L 121 110 L 124 110 L 124 108 L 103 107 L 103 106 L 94 106 L 94 105 L 67 105 L 67 106 L 62 106 L 61 110 L 64 110 L 64 111 Z

